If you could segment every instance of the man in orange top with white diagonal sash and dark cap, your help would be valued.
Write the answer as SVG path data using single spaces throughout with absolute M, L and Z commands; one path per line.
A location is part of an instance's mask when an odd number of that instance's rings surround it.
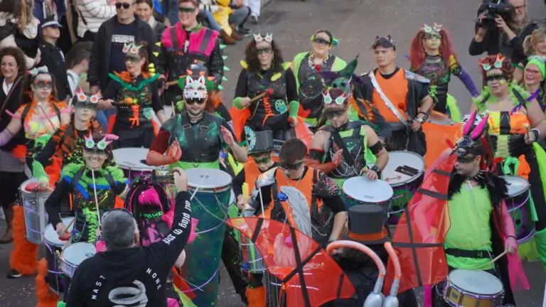
M 385 147 L 424 156 L 427 149 L 421 124 L 434 104 L 429 80 L 396 66 L 396 45 L 390 35 L 376 37 L 372 50 L 378 68 L 360 76 L 363 85 L 359 90 L 392 126 Z

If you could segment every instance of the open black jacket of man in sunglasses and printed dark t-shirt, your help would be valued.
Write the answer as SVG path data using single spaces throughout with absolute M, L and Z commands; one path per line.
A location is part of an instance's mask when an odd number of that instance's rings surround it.
M 155 63 L 155 55 L 153 53 L 156 49 L 157 37 L 150 25 L 140 18 L 135 17 L 137 21 L 138 31 L 135 36 L 135 42 L 145 41 L 148 43 L 146 48 L 148 49 L 148 57 L 151 63 Z M 89 71 L 87 72 L 87 81 L 90 86 L 99 85 L 100 89 L 104 91 L 108 83 L 108 73 L 110 63 L 110 50 L 112 45 L 112 30 L 114 23 L 117 22 L 117 16 L 109 18 L 107 21 L 100 25 L 97 31 L 97 36 L 93 42 L 91 50 L 91 56 L 89 59 Z

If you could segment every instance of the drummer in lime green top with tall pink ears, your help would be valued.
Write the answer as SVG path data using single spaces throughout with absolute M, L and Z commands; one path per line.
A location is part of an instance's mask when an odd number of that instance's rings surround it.
M 452 269 L 488 271 L 503 281 L 505 290 L 503 305 L 515 304 L 508 278 L 507 257 L 503 256 L 494 264 L 491 263 L 491 259 L 503 252 L 510 254 L 517 252 L 518 244 L 515 239 L 514 222 L 503 201 L 508 198 L 507 183 L 503 178 L 481 168 L 484 151 L 479 138 L 487 126 L 485 124 L 487 120 L 487 118 L 483 119 L 484 122 L 478 124 L 474 131 L 466 133 L 453 151 L 456 162 L 451 173 L 449 188 L 447 188 L 447 207 L 451 226 L 445 234 L 445 239 L 441 239 L 443 234 L 434 232 L 431 228 L 432 222 L 427 219 L 430 212 L 435 212 L 434 206 L 444 204 L 442 200 L 424 202 L 416 206 L 413 222 L 423 238 L 423 244 L 444 245 L 449 271 Z M 466 125 L 473 125 L 473 119 Z M 441 169 L 444 170 L 444 168 Z M 432 172 L 430 176 L 437 178 L 431 178 L 427 182 L 436 184 L 434 189 L 438 189 L 437 183 L 444 181 L 444 175 Z M 421 185 L 420 190 L 432 189 L 424 185 Z M 439 225 L 434 229 L 446 228 Z M 423 250 L 426 251 L 426 247 Z M 516 259 L 519 258 L 516 257 Z M 428 269 L 424 268 L 425 271 Z M 444 298 L 436 295 L 441 293 L 442 289 L 444 289 L 443 285 L 438 285 L 438 292 L 432 290 L 436 306 L 449 306 Z

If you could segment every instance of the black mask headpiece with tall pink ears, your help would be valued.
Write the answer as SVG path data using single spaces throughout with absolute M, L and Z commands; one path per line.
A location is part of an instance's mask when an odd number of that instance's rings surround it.
M 486 131 L 489 115 L 483 117 L 481 122 L 476 124 L 477 113 L 474 111 L 463 126 L 463 137 L 457 142 L 453 151 L 457 156 L 474 154 L 481 156 L 484 153 L 481 136 Z

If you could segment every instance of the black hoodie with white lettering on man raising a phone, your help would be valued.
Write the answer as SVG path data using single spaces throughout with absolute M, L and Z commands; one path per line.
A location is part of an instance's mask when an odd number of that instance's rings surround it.
M 166 279 L 191 231 L 188 192 L 176 195 L 171 232 L 148 247 L 99 252 L 78 266 L 67 307 L 166 307 Z

